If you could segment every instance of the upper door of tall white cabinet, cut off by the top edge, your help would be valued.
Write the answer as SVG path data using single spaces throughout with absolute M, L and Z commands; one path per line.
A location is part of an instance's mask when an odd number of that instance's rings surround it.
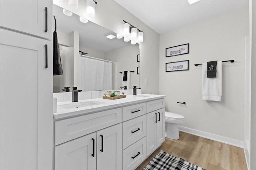
M 52 39 L 52 0 L 0 0 L 0 26 Z

